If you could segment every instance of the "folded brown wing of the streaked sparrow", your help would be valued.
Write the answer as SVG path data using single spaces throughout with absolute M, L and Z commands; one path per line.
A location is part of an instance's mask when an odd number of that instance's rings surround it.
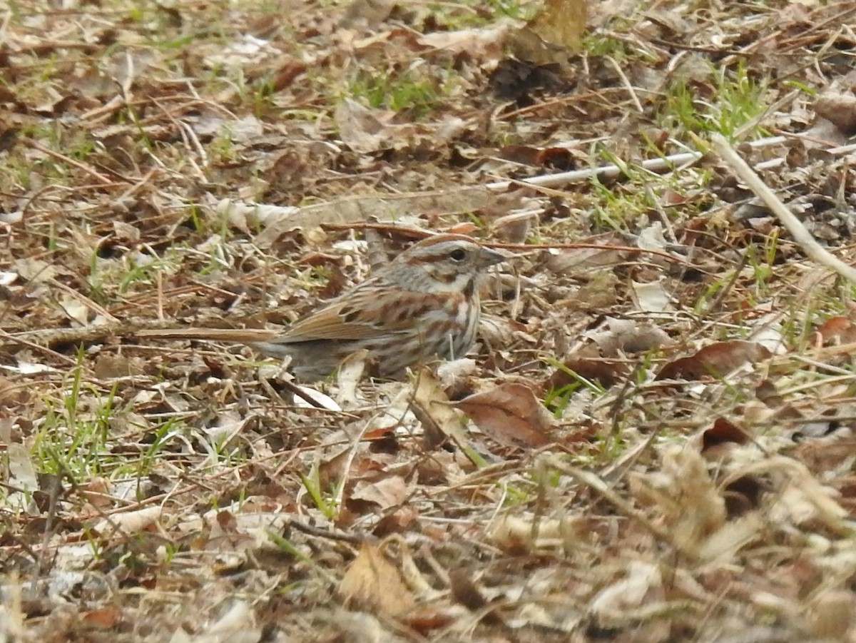
M 369 312 L 377 310 L 375 289 L 356 289 L 340 300 L 319 309 L 304 319 L 298 319 L 279 337 L 277 343 L 311 342 L 315 339 L 370 339 L 395 336 L 413 329 L 411 319 L 401 316 L 384 317 Z

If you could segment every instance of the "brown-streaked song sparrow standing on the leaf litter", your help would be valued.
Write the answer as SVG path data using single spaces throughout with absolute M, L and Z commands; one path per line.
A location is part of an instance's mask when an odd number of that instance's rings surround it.
M 381 377 L 434 357 L 455 359 L 473 345 L 481 313 L 478 279 L 506 259 L 465 235 L 435 235 L 413 244 L 354 289 L 285 330 L 175 329 L 138 335 L 247 343 L 264 354 L 290 357 L 305 380 L 333 372 L 360 348 Z

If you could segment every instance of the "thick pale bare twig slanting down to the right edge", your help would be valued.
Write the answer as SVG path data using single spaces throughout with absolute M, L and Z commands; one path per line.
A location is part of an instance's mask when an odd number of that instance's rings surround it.
M 805 229 L 805 226 L 800 222 L 800 219 L 794 217 L 794 213 L 788 210 L 787 206 L 776 196 L 773 191 L 761 181 L 760 177 L 755 174 L 755 171 L 746 164 L 737 152 L 728 144 L 722 134 L 711 134 L 710 144 L 713 149 L 722 157 L 734 175 L 740 181 L 746 183 L 749 189 L 758 196 L 758 199 L 764 201 L 764 204 L 773 211 L 773 214 L 779 218 L 788 232 L 794 237 L 809 259 L 814 259 L 818 264 L 825 265 L 830 270 L 837 272 L 841 277 L 845 277 L 852 282 L 856 282 L 856 270 L 853 266 L 845 264 L 841 259 L 829 253 L 829 250 L 821 246 L 811 233 Z

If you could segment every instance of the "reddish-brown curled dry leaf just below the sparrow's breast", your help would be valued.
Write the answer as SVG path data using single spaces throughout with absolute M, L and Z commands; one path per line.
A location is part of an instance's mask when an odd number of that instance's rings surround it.
M 496 442 L 514 447 L 550 444 L 546 432 L 553 424 L 552 416 L 523 384 L 500 384 L 452 406 L 460 408 Z

